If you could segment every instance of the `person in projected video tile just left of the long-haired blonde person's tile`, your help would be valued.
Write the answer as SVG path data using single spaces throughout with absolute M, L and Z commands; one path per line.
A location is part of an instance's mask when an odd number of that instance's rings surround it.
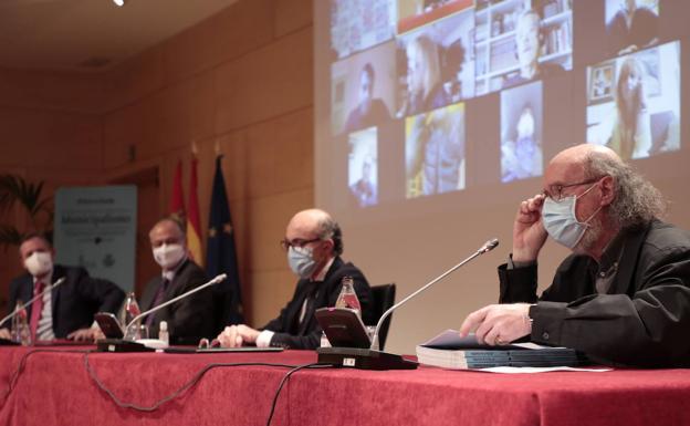
M 347 116 L 345 133 L 372 127 L 390 118 L 390 113 L 384 101 L 374 98 L 375 76 L 374 66 L 370 63 L 364 65 L 359 73 L 359 86 L 357 90 L 359 103 Z

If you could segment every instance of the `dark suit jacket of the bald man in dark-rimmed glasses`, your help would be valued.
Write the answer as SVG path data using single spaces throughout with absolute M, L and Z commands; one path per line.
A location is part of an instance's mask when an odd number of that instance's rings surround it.
M 321 326 L 314 316 L 318 308 L 334 306 L 341 293 L 343 277 L 352 277 L 355 283 L 355 292 L 362 305 L 362 320 L 365 324 L 374 322 L 372 289 L 366 278 L 354 264 L 343 262 L 336 257 L 328 268 L 323 282 L 312 282 L 309 279 L 297 281 L 292 300 L 281 310 L 280 315 L 269 322 L 263 330 L 275 332 L 271 339 L 271 346 L 291 349 L 315 349 L 321 342 Z M 304 321 L 299 324 L 297 320 L 304 299 L 313 294 L 314 301 L 310 303 L 304 314 Z

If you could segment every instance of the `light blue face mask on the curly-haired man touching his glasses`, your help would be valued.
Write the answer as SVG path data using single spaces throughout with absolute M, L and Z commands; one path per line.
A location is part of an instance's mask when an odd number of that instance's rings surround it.
M 589 193 L 592 188 L 594 188 L 594 185 L 579 197 Z M 551 238 L 568 249 L 573 249 L 577 246 L 587 231 L 587 228 L 589 228 L 589 221 L 602 209 L 599 206 L 585 221 L 581 222 L 575 216 L 575 206 L 579 197 L 572 195 L 560 201 L 554 201 L 551 197 L 546 197 L 544 206 L 542 207 L 542 224 L 544 224 L 544 229 L 546 229 Z

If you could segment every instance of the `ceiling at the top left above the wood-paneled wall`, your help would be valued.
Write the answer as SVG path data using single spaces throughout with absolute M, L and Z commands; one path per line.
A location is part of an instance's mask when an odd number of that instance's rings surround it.
M 102 71 L 238 0 L 0 0 L 0 67 Z

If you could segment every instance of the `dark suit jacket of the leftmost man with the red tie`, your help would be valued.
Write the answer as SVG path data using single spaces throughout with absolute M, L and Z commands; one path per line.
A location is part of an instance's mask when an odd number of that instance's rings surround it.
M 71 332 L 90 328 L 96 312 L 117 313 L 125 299 L 125 293 L 111 281 L 91 278 L 84 268 L 53 267 L 53 282 L 65 277 L 66 280 L 51 293 L 53 308 L 53 333 L 65 339 Z M 25 273 L 10 283 L 9 310 L 13 310 L 18 300 L 27 302 L 33 298 L 33 277 Z M 27 314 L 31 318 L 31 308 Z

